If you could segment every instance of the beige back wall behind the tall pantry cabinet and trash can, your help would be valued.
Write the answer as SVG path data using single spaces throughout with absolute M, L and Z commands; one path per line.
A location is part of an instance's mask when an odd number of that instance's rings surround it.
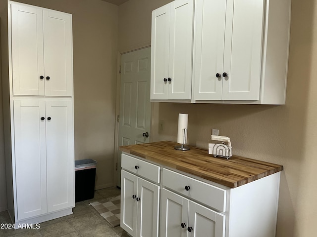
M 112 186 L 118 6 L 102 0 L 20 2 L 73 15 L 75 159 L 96 159 L 96 188 Z M 7 54 L 5 11 L 6 0 L 0 0 L 3 54 Z M 2 124 L 0 107 L 0 209 L 6 205 Z

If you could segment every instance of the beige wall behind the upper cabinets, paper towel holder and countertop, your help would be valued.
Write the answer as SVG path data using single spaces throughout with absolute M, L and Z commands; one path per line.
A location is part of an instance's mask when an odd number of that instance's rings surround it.
M 143 14 L 147 19 L 150 19 L 150 5 L 163 5 L 159 0 L 149 1 L 145 7 L 142 7 L 144 0 L 130 0 L 123 5 L 128 6 L 128 3 L 139 6 L 138 9 L 133 8 L 134 15 Z M 178 113 L 188 113 L 188 140 L 191 145 L 207 148 L 211 129 L 218 128 L 220 135 L 231 138 L 235 155 L 284 165 L 277 237 L 315 237 L 317 233 L 316 8 L 314 0 L 292 0 L 285 106 L 153 104 L 153 141 L 176 141 Z M 126 8 L 119 7 L 119 49 L 150 39 L 149 22 L 133 18 L 126 11 Z M 125 22 L 129 22 L 127 26 L 123 25 Z M 123 36 L 124 39 L 121 38 Z M 158 129 L 159 120 L 165 121 L 164 131 Z

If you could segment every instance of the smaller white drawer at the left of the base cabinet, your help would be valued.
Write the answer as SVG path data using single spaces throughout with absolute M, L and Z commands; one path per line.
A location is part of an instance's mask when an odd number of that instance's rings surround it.
M 138 176 L 142 176 L 159 184 L 160 166 L 158 165 L 122 154 L 121 167 L 131 173 L 137 174 Z

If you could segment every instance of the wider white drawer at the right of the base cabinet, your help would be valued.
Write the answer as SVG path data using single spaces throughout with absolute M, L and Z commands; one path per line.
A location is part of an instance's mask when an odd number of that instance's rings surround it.
M 163 186 L 219 211 L 226 209 L 227 191 L 211 184 L 163 169 Z

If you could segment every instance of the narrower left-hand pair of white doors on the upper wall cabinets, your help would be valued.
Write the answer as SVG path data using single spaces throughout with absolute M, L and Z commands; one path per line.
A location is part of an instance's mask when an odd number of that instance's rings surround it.
M 191 99 L 193 15 L 193 0 L 175 0 L 152 12 L 152 100 Z

